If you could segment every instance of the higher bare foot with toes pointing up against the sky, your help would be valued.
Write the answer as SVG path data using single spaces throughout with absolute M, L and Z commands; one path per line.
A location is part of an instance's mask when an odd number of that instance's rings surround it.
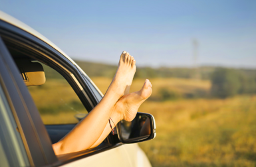
M 130 85 L 136 72 L 135 60 L 126 51 L 122 52 L 116 74 L 108 87 L 108 91 L 114 91 L 119 96 L 129 93 Z M 108 92 L 107 91 L 107 92 Z

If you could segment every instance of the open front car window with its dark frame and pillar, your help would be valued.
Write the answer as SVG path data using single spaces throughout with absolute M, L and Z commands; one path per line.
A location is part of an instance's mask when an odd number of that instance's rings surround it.
M 34 166 L 34 164 L 35 166 L 45 164 L 59 166 L 78 158 L 114 148 L 116 146 L 112 144 L 114 140 L 108 136 L 97 148 L 66 154 L 62 157 L 55 156 L 51 144 L 58 142 L 70 132 L 78 123 L 78 120 L 90 112 L 101 98 L 96 99 L 95 92 L 92 93 L 91 85 L 87 83 L 87 80 L 84 80 L 81 72 L 78 72 L 76 66 L 55 48 L 19 28 L 7 23 L 2 24 L 1 21 L 0 23 L 0 42 L 3 39 L 2 45 L 5 49 L 4 63 L 9 68 L 5 72 L 8 71 L 8 74 L 11 74 L 8 81 L 13 82 L 15 90 L 17 89 L 17 92 L 15 91 L 12 96 L 12 102 L 15 104 L 18 113 L 15 121 L 17 123 L 21 122 L 21 127 L 24 127 L 25 131 L 22 133 L 23 144 L 27 144 L 26 150 L 29 152 L 27 154 L 31 166 Z M 5 26 L 5 24 L 8 26 L 7 28 L 11 27 L 13 29 L 11 31 L 1 29 L 1 26 Z M 17 31 L 17 33 L 12 33 L 12 31 Z M 28 87 L 25 86 L 24 80 L 27 80 L 27 76 L 22 75 L 24 69 L 19 68 L 15 61 L 23 58 L 31 63 L 43 66 L 45 72 L 44 84 L 32 83 Z M 52 85 L 55 85 L 55 87 L 47 86 L 49 83 L 53 83 Z M 57 92 L 57 88 L 60 87 L 62 88 L 61 91 Z M 8 91 L 10 92 L 14 90 L 9 88 Z M 39 97 L 37 93 L 40 91 L 45 93 L 47 97 Z M 59 101 L 49 100 L 53 96 L 53 92 L 57 92 L 58 95 L 56 96 L 64 99 Z M 17 101 L 17 99 L 19 100 Z M 57 98 L 52 99 L 57 100 Z M 22 104 L 23 107 L 16 105 L 17 102 L 19 102 L 19 105 Z M 48 103 L 48 105 L 44 106 L 45 103 Z M 65 119 L 61 119 L 61 121 L 59 119 L 58 121 L 57 117 L 63 113 L 65 115 L 72 113 L 72 117 L 66 116 Z M 47 117 L 51 117 L 51 119 Z M 86 139 L 84 139 L 84 142 L 86 142 Z

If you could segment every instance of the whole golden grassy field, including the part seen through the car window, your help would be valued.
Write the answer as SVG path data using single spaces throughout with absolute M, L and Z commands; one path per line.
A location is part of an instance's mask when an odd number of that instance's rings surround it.
M 92 80 L 102 93 L 111 82 L 110 78 Z M 154 78 L 150 82 L 152 97 L 139 111 L 156 119 L 156 138 L 140 143 L 152 166 L 256 166 L 256 95 L 211 99 L 207 80 Z M 136 79 L 130 90 L 137 91 L 143 84 L 144 80 Z M 77 123 L 74 115 L 87 113 L 64 80 L 50 79 L 28 88 L 45 124 Z

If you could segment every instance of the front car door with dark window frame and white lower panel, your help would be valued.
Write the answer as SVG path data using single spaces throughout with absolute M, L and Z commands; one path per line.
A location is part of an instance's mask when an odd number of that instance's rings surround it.
M 68 166 L 131 166 L 128 154 L 116 135 L 114 137 L 109 136 L 106 143 L 97 148 L 74 152 L 60 157 L 55 156 L 51 147 L 52 141 L 43 124 L 38 107 L 23 83 L 19 70 L 6 46 L 13 44 L 12 47 L 22 51 L 23 49 L 37 50 L 39 51 L 37 54 L 41 54 L 37 55 L 37 58 L 45 58 L 49 64 L 55 64 L 60 72 L 61 70 L 70 70 L 70 73 L 68 74 L 67 72 L 65 76 L 66 82 L 72 82 L 72 88 L 78 99 L 87 107 L 90 106 L 91 109 L 98 103 L 97 95 L 92 91 L 95 88 L 91 87 L 92 85 L 86 84 L 86 81 L 74 64 L 49 46 L 49 44 L 8 23 L 3 21 L 0 23 L 1 63 L 7 69 L 1 69 L 1 72 L 8 72 L 8 74 L 5 74 L 6 77 L 4 77 L 8 93 L 13 90 L 17 91 L 13 95 L 11 103 L 17 115 L 15 121 L 17 125 L 21 124 L 18 126 L 18 129 L 23 137 L 23 144 L 25 145 L 31 166 L 44 166 L 47 164 L 52 166 L 59 166 L 61 164 Z M 3 42 L 2 37 L 5 42 Z M 16 43 L 10 41 L 15 41 Z M 1 75 L 4 76 L 4 73 Z M 9 79 L 7 80 L 6 78 Z M 88 111 L 90 111 L 90 107 L 88 107 Z

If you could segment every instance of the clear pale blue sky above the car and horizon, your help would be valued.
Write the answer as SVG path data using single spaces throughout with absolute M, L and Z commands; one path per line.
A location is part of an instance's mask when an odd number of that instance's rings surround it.
M 74 60 L 256 68 L 256 1 L 7 1 L 0 10 Z M 198 43 L 193 58 L 193 40 Z

